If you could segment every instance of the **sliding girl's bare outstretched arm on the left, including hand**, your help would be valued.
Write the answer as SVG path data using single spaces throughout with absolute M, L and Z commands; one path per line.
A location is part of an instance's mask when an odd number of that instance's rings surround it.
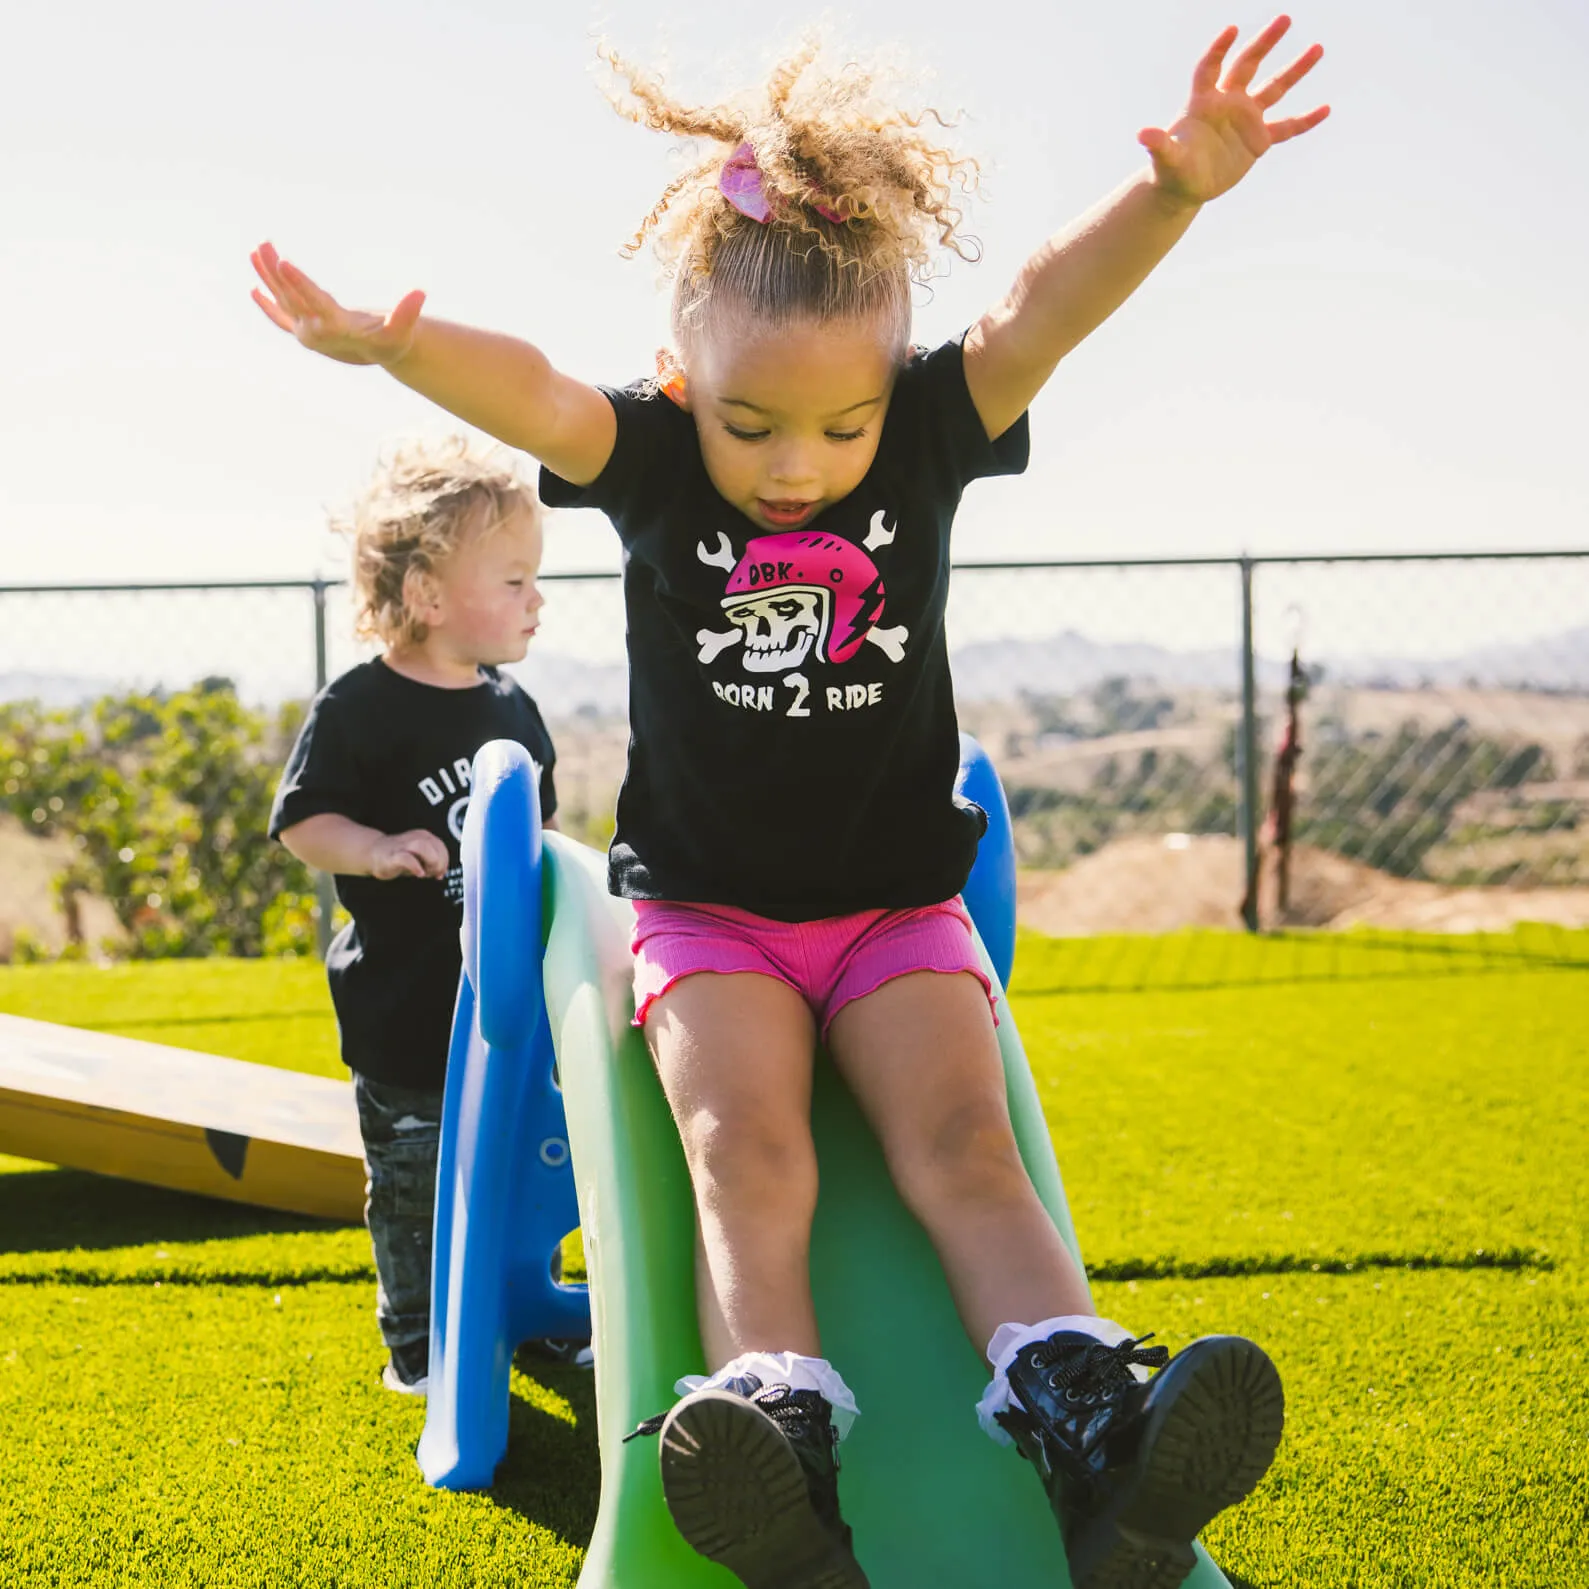
M 343 308 L 270 243 L 253 253 L 265 284 L 254 302 L 283 331 L 342 364 L 378 364 L 448 413 L 518 447 L 574 485 L 607 466 L 618 426 L 612 404 L 551 367 L 528 342 L 421 316 L 423 292 L 389 315 Z

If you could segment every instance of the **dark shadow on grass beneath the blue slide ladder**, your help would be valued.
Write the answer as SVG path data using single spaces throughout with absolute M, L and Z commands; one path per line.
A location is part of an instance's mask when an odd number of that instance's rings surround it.
M 486 1494 L 528 1522 L 585 1549 L 596 1529 L 601 1452 L 596 1446 L 596 1376 L 583 1368 L 524 1362 L 531 1378 L 563 1397 L 574 1422 L 515 1395 L 507 1409 L 507 1456 Z

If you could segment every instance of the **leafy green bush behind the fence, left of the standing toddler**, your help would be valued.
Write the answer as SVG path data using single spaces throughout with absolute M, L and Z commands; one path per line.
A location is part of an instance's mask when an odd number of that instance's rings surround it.
M 126 953 L 310 953 L 308 869 L 265 836 L 302 707 L 246 707 L 226 679 L 83 707 L 0 706 L 0 809 L 75 858 L 57 893 L 110 901 Z M 78 949 L 81 952 L 81 947 Z

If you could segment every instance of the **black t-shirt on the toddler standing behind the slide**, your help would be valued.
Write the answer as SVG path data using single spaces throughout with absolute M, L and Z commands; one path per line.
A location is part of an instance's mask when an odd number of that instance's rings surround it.
M 472 690 L 442 690 L 381 661 L 348 669 L 316 696 L 270 812 L 270 836 L 335 812 L 381 833 L 426 828 L 445 845 L 445 877 L 337 877 L 353 920 L 326 957 L 342 1057 L 372 1081 L 440 1087 L 462 965 L 459 841 L 475 752 L 518 740 L 540 769 L 540 814 L 558 794 L 551 736 L 535 702 L 494 667 Z

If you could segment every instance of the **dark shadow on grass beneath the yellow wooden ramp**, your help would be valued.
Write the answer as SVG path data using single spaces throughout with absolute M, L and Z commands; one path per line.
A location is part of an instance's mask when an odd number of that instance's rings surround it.
M 0 1176 L 0 1254 L 106 1251 L 151 1241 L 226 1241 L 338 1228 L 334 1220 L 307 1214 L 146 1187 L 86 1170 L 40 1168 Z

